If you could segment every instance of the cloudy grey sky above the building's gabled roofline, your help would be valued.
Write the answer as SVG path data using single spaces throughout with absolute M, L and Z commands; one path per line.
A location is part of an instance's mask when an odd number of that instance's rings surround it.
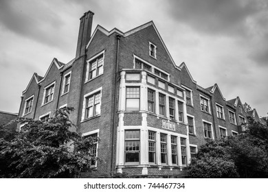
M 177 65 L 197 84 L 218 84 L 226 100 L 240 97 L 268 112 L 268 0 L 0 0 L 0 110 L 18 112 L 32 75 L 53 58 L 75 57 L 79 19 L 94 12 L 122 32 L 153 21 Z

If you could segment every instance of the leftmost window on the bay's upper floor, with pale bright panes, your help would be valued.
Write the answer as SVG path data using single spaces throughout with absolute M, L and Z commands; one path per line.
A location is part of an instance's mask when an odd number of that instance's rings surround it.
M 126 87 L 126 110 L 139 110 L 139 87 Z

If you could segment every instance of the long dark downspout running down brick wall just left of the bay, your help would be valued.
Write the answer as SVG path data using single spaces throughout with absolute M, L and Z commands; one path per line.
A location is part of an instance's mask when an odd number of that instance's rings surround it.
M 118 91 L 117 91 L 117 85 L 118 85 L 118 57 L 119 57 L 119 43 L 120 43 L 120 38 L 121 36 L 119 34 L 116 35 L 116 40 L 117 40 L 117 43 L 116 43 L 116 58 L 115 58 L 115 90 L 114 90 L 114 97 L 113 97 L 113 125 L 112 125 L 112 148 L 111 148 L 111 174 L 113 176 L 113 169 L 114 169 L 114 162 L 113 162 L 113 158 L 114 158 L 114 155 L 113 153 L 115 152 L 115 130 L 116 130 L 116 119 L 115 119 L 115 112 L 116 112 L 116 98 L 117 98 L 117 94 L 118 94 Z

